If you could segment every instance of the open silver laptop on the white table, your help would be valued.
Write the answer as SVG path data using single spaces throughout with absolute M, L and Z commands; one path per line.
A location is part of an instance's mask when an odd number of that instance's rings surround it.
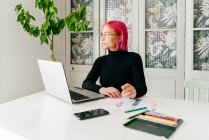
M 46 60 L 37 61 L 45 90 L 48 94 L 73 104 L 93 101 L 106 97 L 102 94 L 83 88 L 70 88 L 70 86 L 68 86 L 64 67 L 61 62 L 52 62 Z

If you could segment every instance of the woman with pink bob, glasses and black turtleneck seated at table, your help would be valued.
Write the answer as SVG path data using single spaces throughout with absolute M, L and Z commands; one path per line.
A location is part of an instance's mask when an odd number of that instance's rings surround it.
M 121 21 L 108 21 L 100 33 L 103 49 L 109 54 L 96 59 L 82 87 L 100 94 L 119 98 L 138 98 L 146 94 L 142 60 L 128 52 L 128 31 Z M 100 85 L 96 81 L 100 77 Z

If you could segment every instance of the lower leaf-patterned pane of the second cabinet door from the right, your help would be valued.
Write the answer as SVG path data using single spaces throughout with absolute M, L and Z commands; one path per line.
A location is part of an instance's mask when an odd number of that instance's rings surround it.
M 176 68 L 176 32 L 146 32 L 146 61 L 148 68 Z

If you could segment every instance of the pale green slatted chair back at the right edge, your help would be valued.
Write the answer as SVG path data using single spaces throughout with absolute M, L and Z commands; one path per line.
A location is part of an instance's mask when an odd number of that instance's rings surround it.
M 204 90 L 206 91 L 206 100 L 209 102 L 209 81 L 188 80 L 184 82 L 184 88 L 185 99 L 195 101 L 195 97 L 197 97 L 197 101 L 199 101 L 200 93 Z

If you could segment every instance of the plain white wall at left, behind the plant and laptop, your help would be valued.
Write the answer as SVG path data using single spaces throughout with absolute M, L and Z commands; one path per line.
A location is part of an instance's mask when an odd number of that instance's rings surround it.
M 39 38 L 30 37 L 16 22 L 18 3 L 38 17 L 39 24 L 43 19 L 34 0 L 0 1 L 0 103 L 43 90 L 36 59 L 50 57 L 48 46 L 41 46 Z

